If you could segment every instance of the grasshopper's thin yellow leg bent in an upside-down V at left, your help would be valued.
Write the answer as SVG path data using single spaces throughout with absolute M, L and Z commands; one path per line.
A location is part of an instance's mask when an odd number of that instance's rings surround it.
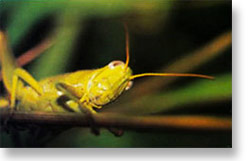
M 11 99 L 10 99 L 10 107 L 15 107 L 16 101 L 16 92 L 17 92 L 17 85 L 18 80 L 22 79 L 26 82 L 30 87 L 32 87 L 39 95 L 43 94 L 42 87 L 38 84 L 38 82 L 24 69 L 17 68 L 14 71 L 14 75 L 12 78 L 12 88 L 11 88 Z

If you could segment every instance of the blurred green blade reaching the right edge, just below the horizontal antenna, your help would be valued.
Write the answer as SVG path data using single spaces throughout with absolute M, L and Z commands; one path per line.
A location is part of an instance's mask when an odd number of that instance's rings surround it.
M 232 76 L 225 74 L 215 77 L 215 80 L 194 82 L 181 89 L 149 95 L 120 108 L 112 108 L 110 112 L 129 114 L 150 114 L 174 109 L 184 105 L 213 102 L 232 97 Z

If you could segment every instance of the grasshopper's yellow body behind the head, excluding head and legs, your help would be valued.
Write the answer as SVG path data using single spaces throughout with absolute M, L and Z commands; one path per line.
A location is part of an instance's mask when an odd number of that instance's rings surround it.
M 77 87 L 82 93 L 85 93 L 86 88 L 84 85 L 93 73 L 94 70 L 86 70 L 43 79 L 38 82 L 44 92 L 42 95 L 39 95 L 32 87 L 28 85 L 23 86 L 19 84 L 16 97 L 17 100 L 19 100 L 17 109 L 24 111 L 67 111 L 57 103 L 57 99 L 62 96 L 63 93 L 55 87 L 55 84 L 59 81 L 67 83 Z M 71 106 L 72 110 L 79 111 L 74 103 L 71 103 Z

